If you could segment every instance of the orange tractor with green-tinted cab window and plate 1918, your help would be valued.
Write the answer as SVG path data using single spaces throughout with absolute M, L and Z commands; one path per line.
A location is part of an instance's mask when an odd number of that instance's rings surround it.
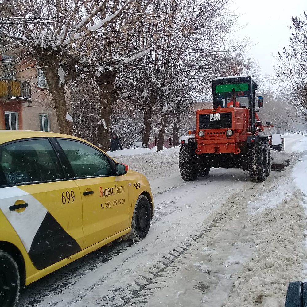
M 270 146 L 255 108 L 258 84 L 250 76 L 212 80 L 213 109 L 197 110 L 196 130 L 180 138 L 179 170 L 185 181 L 207 176 L 210 168 L 242 168 L 251 181 L 270 174 Z M 194 134 L 194 136 L 192 135 Z

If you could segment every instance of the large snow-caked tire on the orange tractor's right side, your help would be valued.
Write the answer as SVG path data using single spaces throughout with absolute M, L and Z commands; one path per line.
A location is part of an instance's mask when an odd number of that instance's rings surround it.
M 252 182 L 266 180 L 265 165 L 268 163 L 268 150 L 264 142 L 253 143 L 248 149 L 248 170 Z

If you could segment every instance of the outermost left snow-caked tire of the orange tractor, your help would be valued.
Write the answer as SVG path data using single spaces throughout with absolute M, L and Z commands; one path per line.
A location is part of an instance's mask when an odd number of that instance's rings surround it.
M 179 152 L 179 172 L 182 180 L 192 181 L 197 178 L 196 159 L 194 142 L 181 145 Z

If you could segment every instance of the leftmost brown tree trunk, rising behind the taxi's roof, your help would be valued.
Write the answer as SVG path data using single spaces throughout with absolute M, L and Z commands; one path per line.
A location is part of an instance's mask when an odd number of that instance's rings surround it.
M 67 106 L 64 85 L 60 84 L 60 77 L 55 67 L 57 66 L 47 66 L 43 68 L 43 71 L 56 109 L 56 119 L 59 125 L 60 133 L 71 135 L 72 122 L 66 120 Z

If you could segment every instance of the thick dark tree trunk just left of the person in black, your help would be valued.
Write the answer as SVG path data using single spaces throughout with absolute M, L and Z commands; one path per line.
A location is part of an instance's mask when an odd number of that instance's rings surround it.
M 114 98 L 116 71 L 111 71 L 96 78 L 99 87 L 100 120 L 98 122 L 98 140 L 101 149 L 110 150 L 110 123 Z

